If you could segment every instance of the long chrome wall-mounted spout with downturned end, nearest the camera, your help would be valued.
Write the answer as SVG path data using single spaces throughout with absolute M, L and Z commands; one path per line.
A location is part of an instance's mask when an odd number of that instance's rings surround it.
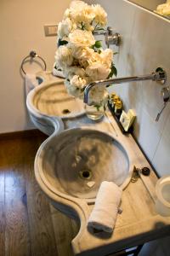
M 88 104 L 88 93 L 95 85 L 109 86 L 111 84 L 122 84 L 122 83 L 127 83 L 132 81 L 144 81 L 144 80 L 160 81 L 161 84 L 164 84 L 166 82 L 166 79 L 167 79 L 166 72 L 161 67 L 157 67 L 156 72 L 150 73 L 148 75 L 94 81 L 88 84 L 84 90 L 84 102 Z

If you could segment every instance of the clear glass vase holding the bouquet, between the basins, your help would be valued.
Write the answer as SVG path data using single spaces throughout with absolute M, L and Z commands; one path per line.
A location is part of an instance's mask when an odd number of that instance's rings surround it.
M 88 119 L 99 120 L 105 114 L 108 102 L 108 92 L 103 86 L 95 86 L 89 91 L 88 104 L 85 104 L 85 111 Z

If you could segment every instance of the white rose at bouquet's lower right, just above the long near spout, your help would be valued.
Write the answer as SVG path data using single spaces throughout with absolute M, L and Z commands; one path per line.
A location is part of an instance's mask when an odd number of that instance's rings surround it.
M 102 63 L 94 62 L 86 68 L 86 73 L 93 80 L 107 79 L 111 73 L 111 68 L 105 67 Z

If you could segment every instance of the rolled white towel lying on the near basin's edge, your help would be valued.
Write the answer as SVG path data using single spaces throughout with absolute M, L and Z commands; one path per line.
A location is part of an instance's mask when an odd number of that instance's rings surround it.
M 88 227 L 111 233 L 116 223 L 121 197 L 122 189 L 116 183 L 102 182 L 94 209 L 88 218 Z

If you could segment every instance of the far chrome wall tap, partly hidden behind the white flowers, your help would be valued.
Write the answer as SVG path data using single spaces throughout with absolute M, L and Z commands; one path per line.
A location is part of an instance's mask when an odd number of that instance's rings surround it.
M 111 44 L 116 46 L 120 45 L 121 43 L 121 35 L 117 32 L 113 32 L 111 26 L 108 26 L 107 29 L 97 30 L 93 32 L 95 35 L 105 35 L 105 44 L 109 48 Z

